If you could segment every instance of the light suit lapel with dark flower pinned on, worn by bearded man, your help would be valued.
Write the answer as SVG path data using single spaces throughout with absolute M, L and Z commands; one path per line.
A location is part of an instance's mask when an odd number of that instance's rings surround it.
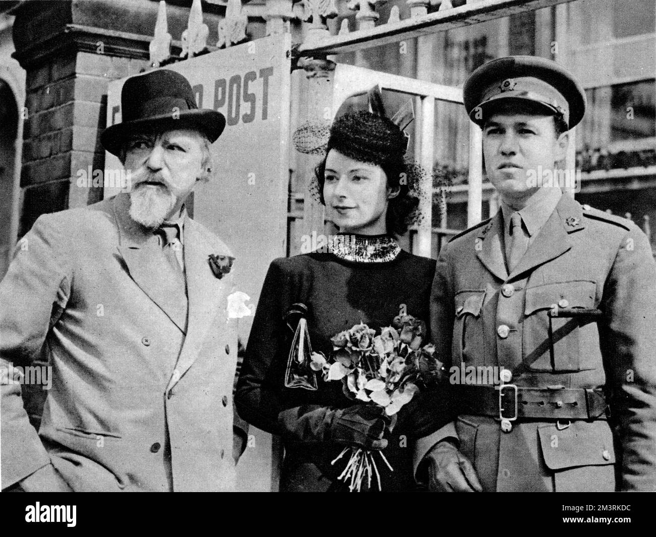
M 222 293 L 229 278 L 216 278 L 209 265 L 209 255 L 230 255 L 227 250 L 217 249 L 207 241 L 197 223 L 186 217 L 184 222 L 184 266 L 187 276 L 189 297 L 189 325 L 176 372 L 169 381 L 172 387 L 192 366 L 198 356 L 207 330 L 211 326 L 219 307 Z

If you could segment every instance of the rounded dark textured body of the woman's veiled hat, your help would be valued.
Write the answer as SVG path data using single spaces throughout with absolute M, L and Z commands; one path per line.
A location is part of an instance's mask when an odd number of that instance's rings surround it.
M 403 161 L 407 143 L 407 137 L 391 119 L 354 112 L 333 123 L 326 154 L 335 149 L 354 160 L 382 166 Z

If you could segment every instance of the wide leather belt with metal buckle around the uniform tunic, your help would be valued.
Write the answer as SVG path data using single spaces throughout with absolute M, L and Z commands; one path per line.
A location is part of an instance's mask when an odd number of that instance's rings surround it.
M 501 391 L 501 393 L 500 393 Z M 600 389 L 460 386 L 455 393 L 462 414 L 497 419 L 606 419 Z

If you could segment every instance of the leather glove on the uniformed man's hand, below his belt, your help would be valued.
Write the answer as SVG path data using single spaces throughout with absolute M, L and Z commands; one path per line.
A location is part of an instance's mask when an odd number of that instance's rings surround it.
M 441 440 L 426 454 L 428 488 L 433 492 L 483 492 L 476 470 L 451 440 Z

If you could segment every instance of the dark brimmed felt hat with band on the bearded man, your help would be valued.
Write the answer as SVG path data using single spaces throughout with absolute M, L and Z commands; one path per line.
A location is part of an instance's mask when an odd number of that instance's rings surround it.
M 189 81 L 170 69 L 129 78 L 121 91 L 121 123 L 107 127 L 100 142 L 113 155 L 135 129 L 195 129 L 214 142 L 226 126 L 215 110 L 199 109 Z

